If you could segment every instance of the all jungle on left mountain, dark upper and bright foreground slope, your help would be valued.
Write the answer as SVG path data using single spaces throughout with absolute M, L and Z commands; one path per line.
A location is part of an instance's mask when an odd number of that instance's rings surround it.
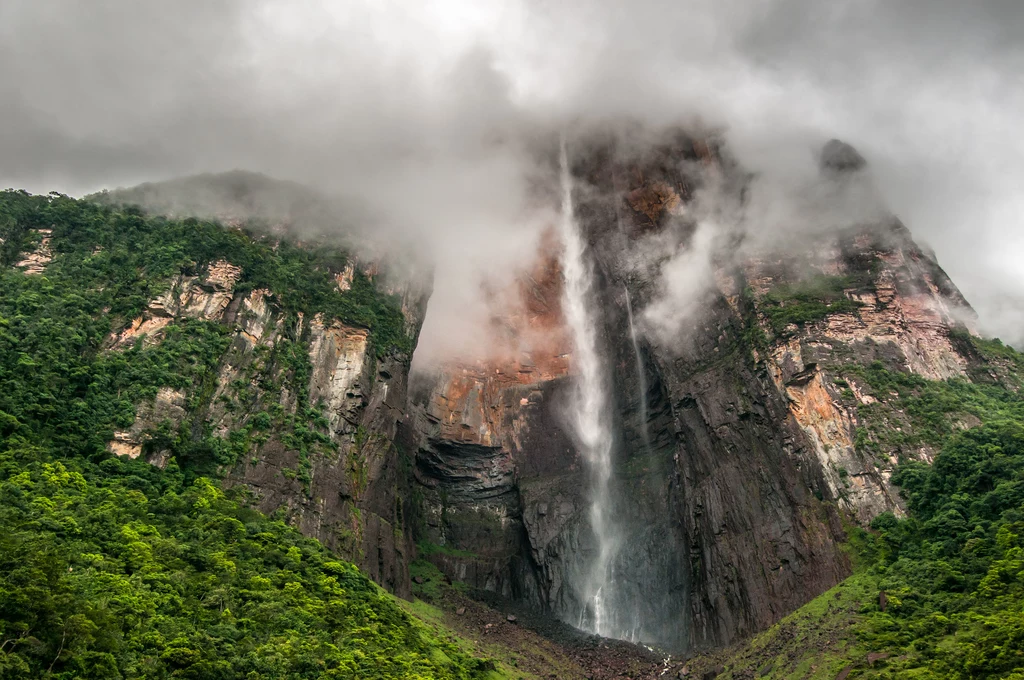
M 39 229 L 53 260 L 27 275 L 12 264 Z M 202 452 L 160 470 L 105 451 L 133 405 L 200 379 L 226 338 L 201 322 L 155 347 L 104 351 L 104 338 L 216 259 L 243 268 L 243 290 L 408 350 L 393 298 L 359 274 L 338 291 L 343 253 L 20 192 L 0 193 L 0 678 L 493 675 L 353 565 L 221 492 Z

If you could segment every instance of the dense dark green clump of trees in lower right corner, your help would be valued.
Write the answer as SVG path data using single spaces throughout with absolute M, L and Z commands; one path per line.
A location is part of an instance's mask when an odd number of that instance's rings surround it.
M 891 677 L 1024 678 L 1024 422 L 956 433 L 894 480 L 909 516 L 861 537 L 886 593 L 863 611 L 865 645 L 894 657 Z

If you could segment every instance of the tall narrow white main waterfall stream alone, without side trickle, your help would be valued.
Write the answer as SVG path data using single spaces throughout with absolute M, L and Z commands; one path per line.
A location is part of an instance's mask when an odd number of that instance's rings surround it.
M 612 519 L 610 481 L 612 430 L 608 395 L 601 356 L 597 345 L 597 327 L 592 304 L 594 274 L 586 258 L 586 247 L 572 207 L 572 175 L 568 152 L 562 138 L 561 165 L 562 214 L 561 237 L 565 247 L 562 268 L 565 279 L 563 296 L 565 321 L 572 333 L 573 364 L 577 380 L 570 405 L 572 428 L 583 459 L 590 472 L 590 524 L 597 542 L 597 555 L 589 565 L 582 584 L 584 605 L 581 628 L 606 637 L 618 637 L 614 611 L 612 560 L 618 547 L 618 532 Z

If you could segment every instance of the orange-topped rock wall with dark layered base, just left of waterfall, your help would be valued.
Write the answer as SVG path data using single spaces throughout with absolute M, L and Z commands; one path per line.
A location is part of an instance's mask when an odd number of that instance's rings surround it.
M 546 393 L 569 364 L 560 295 L 557 256 L 549 250 L 496 317 L 493 356 L 419 376 L 416 390 L 419 534 L 439 548 L 430 559 L 473 587 L 535 603 L 544 596 L 520 477 L 557 468 L 566 453 L 574 457 L 547 418 Z M 524 452 L 537 452 L 537 460 L 522 460 Z

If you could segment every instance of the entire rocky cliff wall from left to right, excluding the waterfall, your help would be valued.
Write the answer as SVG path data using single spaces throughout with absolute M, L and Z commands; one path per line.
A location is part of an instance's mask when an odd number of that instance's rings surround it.
M 979 353 L 970 305 L 895 217 L 774 242 L 748 220 L 666 311 L 665 266 L 699 252 L 709 201 L 743 208 L 751 176 L 684 133 L 572 148 L 614 433 L 616 634 L 729 644 L 842 581 L 850 527 L 905 512 L 895 466 L 940 443 L 909 395 L 1013 374 Z M 841 142 L 821 162 L 837 192 L 867 171 Z M 487 358 L 410 378 L 424 287 L 324 244 L 116 214 L 138 253 L 45 219 L 3 251 L 27 278 L 95 270 L 97 356 L 134 376 L 96 428 L 108 451 L 217 476 L 399 595 L 418 553 L 584 625 L 601 546 L 553 236 L 494 300 Z M 949 414 L 941 427 L 979 419 Z

